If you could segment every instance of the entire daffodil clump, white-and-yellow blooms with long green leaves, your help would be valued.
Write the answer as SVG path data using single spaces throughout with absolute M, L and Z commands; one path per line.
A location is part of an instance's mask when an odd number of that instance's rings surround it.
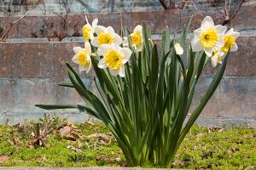
M 148 162 L 171 167 L 178 147 L 217 89 L 239 37 L 232 28 L 227 31 L 226 26 L 215 26 L 209 16 L 194 31 L 191 42 L 187 41 L 187 30 L 189 26 L 183 29 L 183 36 L 172 39 L 166 28 L 159 51 L 145 24 L 131 32 L 125 29 L 125 37 L 121 37 L 113 27 L 98 26 L 97 19 L 90 25 L 86 18 L 84 47 L 73 48 L 72 60 L 79 71 L 88 73 L 94 68 L 96 89 L 92 92 L 86 88 L 67 64 L 70 82 L 60 85 L 75 88 L 84 105 L 37 106 L 49 110 L 76 108 L 100 119 L 132 167 Z M 210 61 L 213 67 L 219 64 L 218 70 L 205 95 L 192 108 L 196 84 Z

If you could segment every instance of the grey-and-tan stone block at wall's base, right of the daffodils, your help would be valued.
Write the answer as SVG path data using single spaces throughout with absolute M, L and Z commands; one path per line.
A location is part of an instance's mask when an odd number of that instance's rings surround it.
M 195 98 L 192 103 L 192 113 L 195 105 L 207 92 L 212 78 L 201 77 L 195 88 Z M 224 76 L 201 113 L 201 118 L 220 118 L 240 120 L 251 119 L 256 122 L 256 80 L 251 77 Z M 212 124 L 214 119 L 212 119 Z

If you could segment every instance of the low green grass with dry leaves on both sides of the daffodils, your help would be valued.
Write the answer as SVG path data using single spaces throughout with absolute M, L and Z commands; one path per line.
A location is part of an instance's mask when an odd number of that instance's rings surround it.
M 46 147 L 32 143 L 33 126 L 0 125 L 0 167 L 127 166 L 118 144 L 102 123 L 76 125 L 76 141 L 49 133 Z M 32 126 L 31 126 L 32 125 Z M 20 130 L 21 128 L 21 130 Z M 93 135 L 91 135 L 93 134 Z M 248 127 L 193 126 L 177 152 L 172 167 L 189 169 L 254 169 L 256 131 Z M 154 167 L 148 165 L 148 167 Z

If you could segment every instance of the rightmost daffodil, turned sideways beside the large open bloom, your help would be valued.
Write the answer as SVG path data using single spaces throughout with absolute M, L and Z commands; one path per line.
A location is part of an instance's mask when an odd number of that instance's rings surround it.
M 224 46 L 221 48 L 224 53 L 235 52 L 237 50 L 236 38 L 240 36 L 240 32 L 231 28 L 224 34 Z

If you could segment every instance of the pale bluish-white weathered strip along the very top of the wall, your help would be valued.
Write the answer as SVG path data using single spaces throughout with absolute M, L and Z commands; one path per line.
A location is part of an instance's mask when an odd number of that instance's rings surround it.
M 177 3 L 180 0 L 177 0 Z M 232 4 L 239 0 L 231 0 Z M 246 0 L 244 5 L 255 4 Z M 209 8 L 223 6 L 224 0 L 189 1 L 185 8 Z M 159 0 L 0 0 L 0 16 L 29 14 L 86 14 L 127 11 L 162 10 Z

